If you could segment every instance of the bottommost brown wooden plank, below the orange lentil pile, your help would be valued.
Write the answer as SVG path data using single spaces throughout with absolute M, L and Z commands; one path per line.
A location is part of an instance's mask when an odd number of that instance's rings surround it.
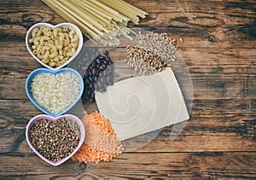
M 243 152 L 122 154 L 98 165 L 68 160 L 58 167 L 46 164 L 35 155 L 2 155 L 0 176 L 12 179 L 244 179 L 256 177 L 255 155 Z

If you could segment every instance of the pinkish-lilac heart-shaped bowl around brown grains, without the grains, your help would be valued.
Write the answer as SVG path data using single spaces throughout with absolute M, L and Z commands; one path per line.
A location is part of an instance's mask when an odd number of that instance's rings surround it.
M 69 154 L 66 158 L 63 158 L 61 160 L 53 161 L 53 160 L 46 159 L 42 154 L 40 154 L 38 152 L 38 150 L 32 145 L 32 139 L 31 139 L 31 136 L 30 136 L 30 131 L 31 131 L 32 126 L 34 125 L 34 123 L 37 122 L 38 120 L 41 120 L 41 119 L 48 119 L 48 120 L 52 120 L 52 121 L 58 121 L 58 120 L 61 120 L 61 119 L 69 119 L 69 120 L 73 120 L 77 125 L 79 125 L 79 131 L 80 131 L 79 145 L 77 146 L 77 148 L 75 148 L 73 150 L 72 154 Z M 30 148 L 32 148 L 32 150 L 36 154 L 38 154 L 38 156 L 41 159 L 43 159 L 44 161 L 46 161 L 50 165 L 55 165 L 55 166 L 61 165 L 62 163 L 64 163 L 68 159 L 70 159 L 73 156 L 73 154 L 75 154 L 79 150 L 79 148 L 82 146 L 82 144 L 84 142 L 84 136 L 85 136 L 85 130 L 84 130 L 84 125 L 83 125 L 82 121 L 77 116 L 74 116 L 72 114 L 61 115 L 57 118 L 51 117 L 51 116 L 46 115 L 46 114 L 40 114 L 40 115 L 37 115 L 34 118 L 32 118 L 29 121 L 29 123 L 26 125 L 26 142 L 28 143 Z

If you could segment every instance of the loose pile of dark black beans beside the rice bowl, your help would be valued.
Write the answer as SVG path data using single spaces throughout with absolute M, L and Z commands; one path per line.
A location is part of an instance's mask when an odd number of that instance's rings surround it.
M 105 49 L 102 55 L 96 48 L 84 49 L 74 68 L 83 75 L 83 102 L 95 102 L 95 90 L 104 92 L 113 84 L 113 61 Z

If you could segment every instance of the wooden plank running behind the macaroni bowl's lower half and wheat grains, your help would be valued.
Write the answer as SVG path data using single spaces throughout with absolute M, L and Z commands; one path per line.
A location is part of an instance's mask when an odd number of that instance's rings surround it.
M 9 73 L 3 76 L 5 71 L 32 71 L 35 68 L 42 67 L 37 61 L 32 58 L 32 55 L 28 53 L 25 47 L 25 43 L 11 44 L 15 46 L 14 49 L 10 49 L 9 46 L 1 46 L 0 50 L 5 52 L 0 58 L 0 67 L 2 78 L 9 78 Z M 110 56 L 115 63 L 116 67 L 125 66 L 126 53 L 124 48 L 110 49 Z M 82 54 L 82 53 L 81 53 Z M 194 47 L 184 48 L 180 47 L 177 51 L 177 60 L 184 61 L 189 68 L 190 73 L 237 73 L 237 74 L 255 74 L 256 64 L 254 57 L 256 55 L 256 49 L 216 49 L 211 50 L 197 49 Z M 79 61 L 77 59 L 77 61 Z M 178 61 L 177 61 L 178 62 Z M 178 63 L 173 63 L 173 66 Z M 12 69 L 13 68 L 13 69 Z M 18 73 L 20 74 L 20 73 Z M 12 74 L 10 74 L 12 75 Z M 11 76 L 12 77 L 12 76 Z M 10 77 L 10 78 L 11 78 Z M 16 77 L 15 77 L 16 78 Z M 17 78 L 21 78 L 20 76 Z

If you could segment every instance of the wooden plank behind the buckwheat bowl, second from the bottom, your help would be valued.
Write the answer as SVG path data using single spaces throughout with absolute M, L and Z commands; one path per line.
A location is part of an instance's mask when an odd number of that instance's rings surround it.
M 13 101 L 7 106 L 8 102 L 1 102 L 5 107 L 0 111 L 3 130 L 0 132 L 3 142 L 0 153 L 32 154 L 26 144 L 26 125 L 29 119 L 41 112 L 28 101 Z M 255 106 L 254 109 L 242 107 L 241 110 L 235 106 L 228 110 L 219 106 L 220 102 L 226 106 L 230 100 L 196 101 L 188 122 L 125 141 L 125 152 L 255 151 Z M 238 102 L 241 101 L 234 104 Z M 94 112 L 96 104 L 84 105 L 84 109 Z

